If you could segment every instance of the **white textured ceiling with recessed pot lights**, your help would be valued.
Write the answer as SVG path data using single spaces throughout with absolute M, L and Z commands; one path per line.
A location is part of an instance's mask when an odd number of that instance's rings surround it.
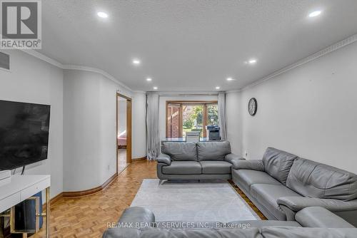
M 42 3 L 41 53 L 104 70 L 133 90 L 242 88 L 357 33 L 356 0 Z M 308 19 L 315 9 L 323 14 Z M 109 18 L 100 19 L 97 11 Z M 141 65 L 133 66 L 133 58 Z M 248 58 L 258 63 L 248 66 Z M 227 82 L 228 76 L 236 80 Z

